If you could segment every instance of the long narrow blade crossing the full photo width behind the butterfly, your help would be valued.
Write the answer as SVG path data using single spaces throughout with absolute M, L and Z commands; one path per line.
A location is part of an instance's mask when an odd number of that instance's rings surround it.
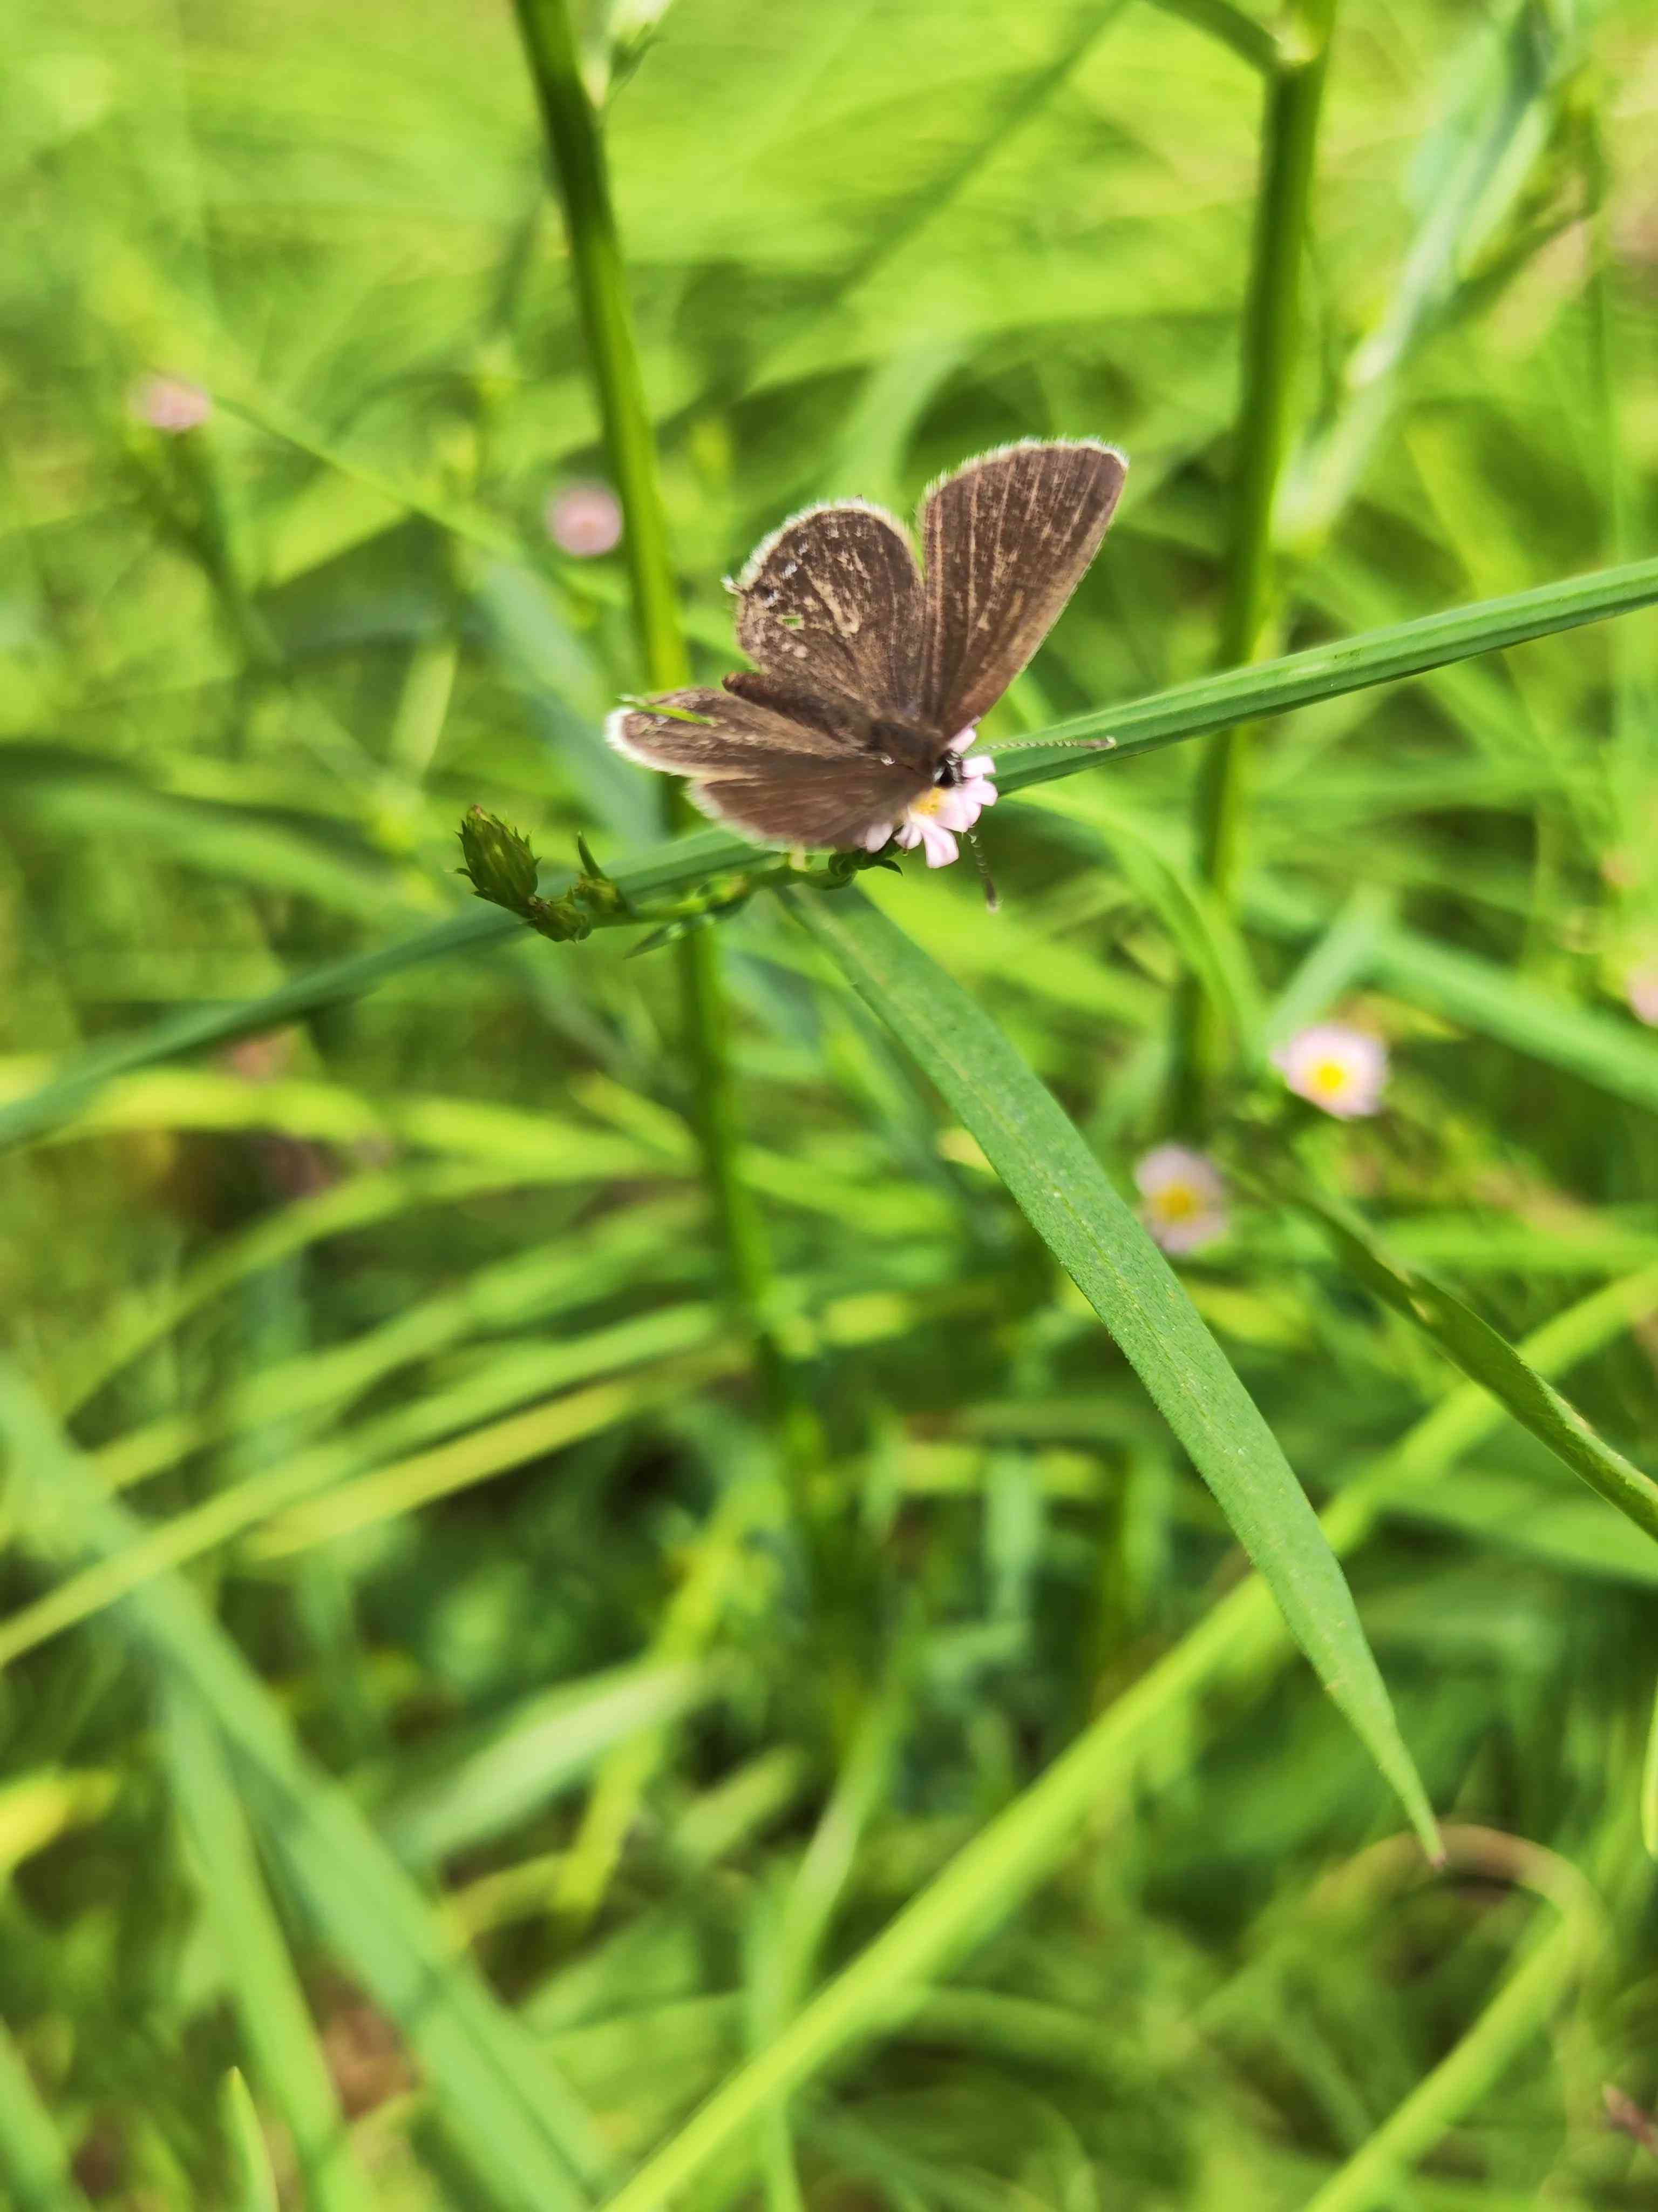
M 1116 757 L 1150 752 L 1156 745 L 1174 745 L 1187 737 L 1222 730 L 1234 721 L 1282 714 L 1373 684 L 1397 684 L 1475 653 L 1499 653 L 1530 637 L 1550 637 L 1554 630 L 1601 622 L 1607 615 L 1627 615 L 1654 602 L 1658 602 L 1658 560 L 1596 568 L 1592 575 L 1570 577 L 1563 584 L 1543 584 L 1503 599 L 1481 599 L 1444 615 L 1424 615 L 1419 622 L 1402 622 L 1333 646 L 1291 653 L 1278 661 L 1234 668 L 1198 684 L 1176 684 L 1152 699 L 1099 708 L 1074 721 L 1054 723 L 1039 732 L 1039 741 L 1070 743 L 1079 737 L 1110 737 Z M 1035 750 L 1021 752 L 1004 765 L 999 783 L 1006 796 L 1099 765 L 1099 754 L 1090 752 L 1043 754 L 1039 741 Z M 752 852 L 754 847 L 743 838 L 721 830 L 701 830 L 672 845 L 659 845 L 632 860 L 621 860 L 610 874 L 630 898 L 648 900 L 703 883 L 721 869 L 741 867 L 752 858 Z M 296 975 L 261 998 L 241 1000 L 234 1006 L 192 1006 L 188 1013 L 166 1015 L 150 1029 L 115 1037 L 80 1055 L 49 1084 L 0 1106 L 0 1146 L 22 1144 L 27 1137 L 71 1119 L 111 1075 L 146 1068 L 159 1060 L 177 1060 L 181 1053 L 225 1044 L 261 1029 L 276 1029 L 298 1020 L 298 1015 L 314 1013 L 318 1006 L 360 998 L 405 969 L 444 960 L 449 953 L 502 945 L 515 927 L 513 918 L 504 914 L 462 914 L 433 929 L 400 938 L 396 945 L 385 945 L 380 951 L 332 960 L 327 967 Z

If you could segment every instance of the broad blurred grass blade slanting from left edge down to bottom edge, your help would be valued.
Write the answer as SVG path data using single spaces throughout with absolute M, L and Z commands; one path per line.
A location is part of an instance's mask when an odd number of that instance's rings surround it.
M 31 1551 L 113 1555 L 135 1535 L 124 1506 L 64 1440 L 15 1371 L 0 1371 L 0 1433 Z M 188 1584 L 168 1575 L 113 1617 L 157 1677 L 212 1717 L 254 1825 L 329 1949 L 416 2053 L 444 2128 L 480 2192 L 504 2212 L 579 2212 L 601 2150 L 592 2121 L 520 2022 L 453 1955 L 427 1900 L 351 1798 L 298 1750 L 274 1699 Z

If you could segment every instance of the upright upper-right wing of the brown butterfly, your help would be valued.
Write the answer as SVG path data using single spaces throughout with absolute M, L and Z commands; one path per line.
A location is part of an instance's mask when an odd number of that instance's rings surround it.
M 1099 553 L 1127 462 L 1108 445 L 1010 445 L 935 484 L 922 509 L 922 710 L 946 734 L 986 714 Z

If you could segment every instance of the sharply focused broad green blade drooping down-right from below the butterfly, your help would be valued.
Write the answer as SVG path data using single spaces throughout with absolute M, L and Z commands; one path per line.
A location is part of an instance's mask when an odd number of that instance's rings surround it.
M 1105 1323 L 1433 1849 L 1426 1792 L 1318 1515 L 1169 1263 L 995 1022 L 895 922 L 858 894 L 796 898 L 794 909 L 904 1040 Z

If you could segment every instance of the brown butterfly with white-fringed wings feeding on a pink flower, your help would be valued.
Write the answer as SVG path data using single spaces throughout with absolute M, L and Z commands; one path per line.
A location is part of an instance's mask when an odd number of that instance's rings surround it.
M 610 717 L 632 761 L 692 779 L 692 799 L 763 845 L 924 845 L 995 799 L 975 728 L 1059 619 L 1099 551 L 1127 462 L 1092 438 L 1004 445 L 926 493 L 917 568 L 902 524 L 867 500 L 807 507 L 736 582 L 736 641 L 756 664 L 723 690 L 676 690 Z

